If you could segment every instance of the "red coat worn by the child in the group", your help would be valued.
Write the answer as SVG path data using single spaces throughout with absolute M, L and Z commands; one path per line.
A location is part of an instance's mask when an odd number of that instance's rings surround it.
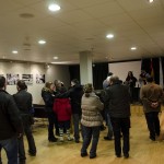
M 54 112 L 57 114 L 58 121 L 71 119 L 71 105 L 69 98 L 56 98 L 54 103 Z

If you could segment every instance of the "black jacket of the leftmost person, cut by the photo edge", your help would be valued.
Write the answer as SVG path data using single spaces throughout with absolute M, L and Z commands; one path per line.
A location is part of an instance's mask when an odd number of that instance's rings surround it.
M 22 132 L 21 116 L 13 97 L 0 90 L 0 140 L 10 139 Z

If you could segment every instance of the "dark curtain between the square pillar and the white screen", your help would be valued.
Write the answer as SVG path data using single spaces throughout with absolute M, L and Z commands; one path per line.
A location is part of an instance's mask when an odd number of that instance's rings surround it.
M 106 79 L 108 73 L 108 63 L 95 63 L 93 66 L 93 86 L 95 90 L 103 89 L 103 81 Z

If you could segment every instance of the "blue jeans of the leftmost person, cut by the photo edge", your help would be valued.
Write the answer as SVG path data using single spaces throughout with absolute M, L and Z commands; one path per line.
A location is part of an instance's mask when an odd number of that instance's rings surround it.
M 0 141 L 0 148 L 3 148 L 7 157 L 8 157 L 8 164 L 17 164 L 17 139 L 15 137 L 10 138 L 8 140 L 1 140 Z

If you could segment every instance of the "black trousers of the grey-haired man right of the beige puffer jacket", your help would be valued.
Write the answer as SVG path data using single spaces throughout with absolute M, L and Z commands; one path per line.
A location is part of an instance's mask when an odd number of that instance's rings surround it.
M 127 155 L 130 150 L 129 143 L 129 128 L 130 128 L 130 118 L 114 118 L 112 117 L 112 125 L 115 137 L 115 153 L 116 155 L 121 155 L 121 141 L 120 133 L 122 133 L 122 152 L 124 155 Z

